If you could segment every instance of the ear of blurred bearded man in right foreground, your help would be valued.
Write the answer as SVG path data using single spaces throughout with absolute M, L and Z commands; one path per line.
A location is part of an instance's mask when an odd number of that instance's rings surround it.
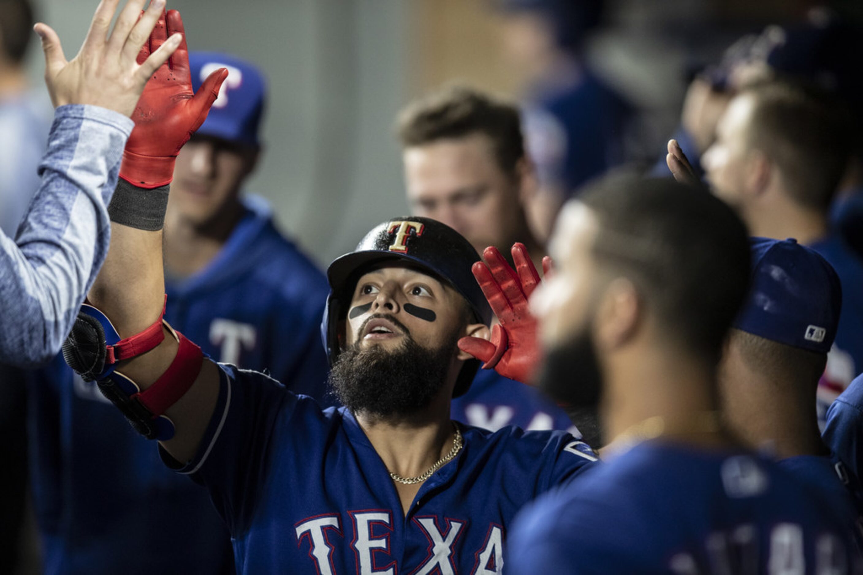
M 636 334 L 643 314 L 643 304 L 635 285 L 627 278 L 608 284 L 596 308 L 597 345 L 612 350 L 630 341 Z

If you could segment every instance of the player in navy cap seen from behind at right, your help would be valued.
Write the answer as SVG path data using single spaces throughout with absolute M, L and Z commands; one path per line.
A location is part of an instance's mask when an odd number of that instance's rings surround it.
M 853 526 L 863 491 L 822 441 L 816 389 L 841 309 L 833 268 L 794 240 L 750 241 L 753 281 L 719 371 L 722 411 L 751 447 L 778 459 L 814 491 L 830 491 Z M 863 511 L 863 508 L 860 508 Z

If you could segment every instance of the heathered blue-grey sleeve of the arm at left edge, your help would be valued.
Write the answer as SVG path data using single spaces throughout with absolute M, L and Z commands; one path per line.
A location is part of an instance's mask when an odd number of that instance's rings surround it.
M 60 351 L 108 253 L 106 206 L 134 127 L 109 109 L 56 110 L 39 191 L 15 241 L 0 232 L 0 362 L 35 366 Z

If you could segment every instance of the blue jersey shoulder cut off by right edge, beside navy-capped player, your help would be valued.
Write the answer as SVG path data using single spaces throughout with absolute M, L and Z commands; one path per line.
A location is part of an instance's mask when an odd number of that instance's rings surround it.
M 863 478 L 863 375 L 854 379 L 828 408 L 822 439 L 845 464 L 851 481 L 860 487 Z M 858 494 L 858 501 L 863 501 L 863 493 Z

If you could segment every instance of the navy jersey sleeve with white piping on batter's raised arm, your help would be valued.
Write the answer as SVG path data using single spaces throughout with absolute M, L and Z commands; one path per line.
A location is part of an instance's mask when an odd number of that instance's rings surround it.
M 260 372 L 225 364 L 218 368 L 218 401 L 198 453 L 181 465 L 159 449 L 168 467 L 205 485 L 237 536 L 248 527 L 267 478 L 274 428 L 292 415 L 297 396 Z

